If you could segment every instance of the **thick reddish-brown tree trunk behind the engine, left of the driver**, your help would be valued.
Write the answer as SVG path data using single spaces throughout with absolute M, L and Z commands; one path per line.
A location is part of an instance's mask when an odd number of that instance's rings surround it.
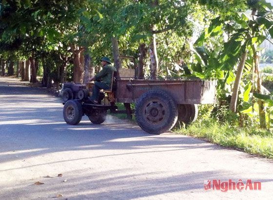
M 74 70 L 73 70 L 73 82 L 74 83 L 82 83 L 83 81 L 83 73 L 84 73 L 84 56 L 83 56 L 83 48 L 75 47 L 74 53 Z

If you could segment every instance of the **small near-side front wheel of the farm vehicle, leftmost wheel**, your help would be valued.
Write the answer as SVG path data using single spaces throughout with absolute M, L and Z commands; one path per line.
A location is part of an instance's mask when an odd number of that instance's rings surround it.
M 69 100 L 63 107 L 64 121 L 69 125 L 77 125 L 82 117 L 81 104 L 75 100 Z

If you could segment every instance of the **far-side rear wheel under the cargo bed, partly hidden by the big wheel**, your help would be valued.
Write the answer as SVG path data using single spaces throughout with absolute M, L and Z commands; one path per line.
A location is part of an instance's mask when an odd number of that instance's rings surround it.
M 179 104 L 178 105 L 178 121 L 189 124 L 195 122 L 198 115 L 198 107 L 196 104 Z

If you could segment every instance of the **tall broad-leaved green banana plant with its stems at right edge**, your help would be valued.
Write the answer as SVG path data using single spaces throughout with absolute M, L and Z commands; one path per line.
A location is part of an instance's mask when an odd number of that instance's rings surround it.
M 208 74 L 207 71 L 217 70 L 223 71 L 225 79 L 223 84 L 227 84 L 232 71 L 237 71 L 235 76 L 235 82 L 233 87 L 232 100 L 230 108 L 236 111 L 238 90 L 241 85 L 241 78 L 246 66 L 246 60 L 252 59 L 252 66 L 254 68 L 254 79 L 252 80 L 252 89 L 256 93 L 261 93 L 261 77 L 259 73 L 259 45 L 264 40 L 272 40 L 273 37 L 273 7 L 265 0 L 247 0 L 245 5 L 252 9 L 247 12 L 234 12 L 232 15 L 219 16 L 212 22 L 211 26 L 204 31 L 204 33 L 196 41 L 196 45 L 203 45 L 204 41 L 210 39 L 212 36 L 218 36 L 227 34 L 229 36 L 228 41 L 224 42 L 222 50 L 219 55 L 214 58 L 218 63 L 213 68 L 208 67 L 208 62 L 198 61 L 199 66 L 202 69 L 203 74 Z M 198 51 L 195 51 L 198 53 Z M 210 54 L 208 54 L 210 55 Z M 202 56 L 197 56 L 199 60 Z M 211 59 L 212 57 L 209 57 Z M 197 59 L 198 60 L 198 59 Z M 198 66 L 198 65 L 196 65 Z M 195 69 L 195 68 L 193 68 Z M 200 73 L 200 72 L 199 72 Z M 244 93 L 244 92 L 243 92 Z M 250 93 L 250 92 L 249 92 Z M 265 112 L 263 100 L 258 100 L 259 104 L 259 118 L 260 127 L 265 128 Z

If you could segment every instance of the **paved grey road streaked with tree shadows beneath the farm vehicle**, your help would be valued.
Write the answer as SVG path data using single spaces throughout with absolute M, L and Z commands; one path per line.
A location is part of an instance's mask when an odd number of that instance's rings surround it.
M 0 200 L 272 199 L 272 162 L 174 133 L 149 135 L 111 116 L 69 126 L 58 98 L 0 78 Z M 205 191 L 213 179 L 251 179 L 261 190 Z

